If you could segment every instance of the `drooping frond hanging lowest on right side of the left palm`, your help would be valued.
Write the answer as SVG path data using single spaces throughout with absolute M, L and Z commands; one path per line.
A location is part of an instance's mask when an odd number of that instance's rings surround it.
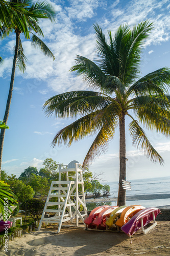
M 32 41 L 31 45 L 34 48 L 38 48 L 38 49 L 40 48 L 41 51 L 45 54 L 45 56 L 51 57 L 53 58 L 53 60 L 55 60 L 54 54 L 50 51 L 50 49 L 44 44 L 44 42 L 39 37 L 33 34 L 31 41 Z

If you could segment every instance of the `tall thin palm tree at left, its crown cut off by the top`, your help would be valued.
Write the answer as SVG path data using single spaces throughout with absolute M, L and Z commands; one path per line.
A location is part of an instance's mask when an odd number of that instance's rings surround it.
M 10 8 L 12 8 L 12 12 L 11 12 L 11 15 L 8 16 L 9 22 L 7 22 L 8 20 L 7 18 L 4 20 L 4 16 L 0 17 L 0 24 L 1 24 L 0 31 L 2 32 L 2 36 L 6 36 L 12 32 L 15 32 L 16 44 L 14 48 L 14 58 L 13 58 L 13 67 L 12 67 L 12 73 L 11 73 L 10 89 L 9 89 L 9 94 L 8 94 L 8 99 L 6 104 L 6 111 L 4 115 L 5 123 L 7 123 L 8 116 L 9 116 L 16 67 L 18 67 L 23 72 L 26 70 L 25 62 L 27 58 L 23 53 L 20 34 L 23 33 L 26 39 L 30 39 L 30 35 L 32 35 L 31 37 L 32 46 L 35 48 L 36 47 L 40 48 L 46 56 L 52 57 L 53 60 L 55 60 L 55 57 L 53 53 L 50 51 L 50 49 L 48 49 L 47 46 L 44 44 L 44 42 L 32 32 L 34 31 L 38 35 L 43 36 L 43 33 L 38 25 L 39 20 L 41 18 L 49 18 L 51 21 L 54 20 L 54 17 L 55 17 L 54 8 L 49 3 L 45 3 L 45 2 L 31 3 L 30 0 L 9 0 L 8 4 L 9 5 L 7 6 L 7 10 L 10 10 Z M 16 11 L 15 9 L 13 11 L 13 8 L 16 7 L 17 5 L 19 5 L 19 9 L 17 8 L 19 11 Z M 1 165 L 2 165 L 4 136 L 5 136 L 5 129 L 2 129 L 0 134 L 0 174 L 1 174 Z

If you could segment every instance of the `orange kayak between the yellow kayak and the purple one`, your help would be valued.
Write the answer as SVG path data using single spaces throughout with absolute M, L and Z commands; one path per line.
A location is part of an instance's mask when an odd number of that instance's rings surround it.
M 129 221 L 129 219 L 131 219 L 135 214 L 137 214 L 138 211 L 142 209 L 145 209 L 145 207 L 136 204 L 126 207 L 115 224 L 118 227 L 122 227 Z

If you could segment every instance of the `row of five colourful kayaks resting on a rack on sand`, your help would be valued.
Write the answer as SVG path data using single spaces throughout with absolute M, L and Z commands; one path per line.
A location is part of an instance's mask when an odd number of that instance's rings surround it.
M 119 230 L 121 228 L 128 236 L 132 236 L 151 221 L 155 223 L 159 212 L 156 207 L 145 208 L 141 205 L 120 207 L 102 205 L 94 208 L 84 223 L 86 229 Z

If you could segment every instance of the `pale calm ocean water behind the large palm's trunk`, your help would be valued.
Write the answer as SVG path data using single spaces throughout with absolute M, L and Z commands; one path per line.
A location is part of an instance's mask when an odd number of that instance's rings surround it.
M 105 182 L 105 184 L 110 186 L 110 197 L 117 197 L 118 182 Z M 131 187 L 132 190 L 126 190 L 127 197 L 146 195 L 146 200 L 126 201 L 127 205 L 139 204 L 144 207 L 170 206 L 170 177 L 132 180 Z M 152 199 L 152 196 L 147 195 L 153 195 L 153 197 L 155 195 L 157 199 Z M 161 197 L 163 197 L 163 195 L 168 198 L 162 199 Z M 112 202 L 112 205 L 116 205 L 116 203 L 117 202 Z

